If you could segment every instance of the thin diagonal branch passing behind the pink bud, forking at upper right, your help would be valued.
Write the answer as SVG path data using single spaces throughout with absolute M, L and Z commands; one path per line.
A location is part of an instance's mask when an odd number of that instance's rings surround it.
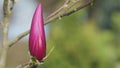
M 86 0 L 86 3 L 69 11 L 69 12 L 65 12 L 66 9 L 69 10 L 72 6 L 74 6 L 76 3 L 79 3 L 80 0 L 75 0 L 75 2 L 72 2 L 73 4 L 68 4 L 70 2 L 70 0 L 65 0 L 64 4 L 62 7 L 60 7 L 58 10 L 56 10 L 55 12 L 53 12 L 52 14 L 50 14 L 46 19 L 45 19 L 45 25 L 50 23 L 51 21 L 55 20 L 55 19 L 59 19 L 60 17 L 64 17 L 64 16 L 69 16 L 75 12 L 77 12 L 78 10 L 87 7 L 88 5 L 90 5 L 94 0 Z M 70 7 L 68 7 L 70 6 Z M 63 13 L 64 12 L 64 13 Z M 29 30 L 23 32 L 22 34 L 20 34 L 17 38 L 15 38 L 13 41 L 9 42 L 8 46 L 11 47 L 13 46 L 16 42 L 18 42 L 19 40 L 21 40 L 23 37 L 25 37 L 26 35 L 29 34 Z

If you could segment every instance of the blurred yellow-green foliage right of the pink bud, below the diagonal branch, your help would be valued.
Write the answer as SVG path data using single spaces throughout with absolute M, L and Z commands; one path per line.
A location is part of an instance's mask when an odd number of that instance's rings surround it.
M 120 68 L 120 12 L 105 17 L 107 10 L 95 9 L 93 16 L 82 9 L 50 24 L 47 50 L 55 49 L 40 68 Z

